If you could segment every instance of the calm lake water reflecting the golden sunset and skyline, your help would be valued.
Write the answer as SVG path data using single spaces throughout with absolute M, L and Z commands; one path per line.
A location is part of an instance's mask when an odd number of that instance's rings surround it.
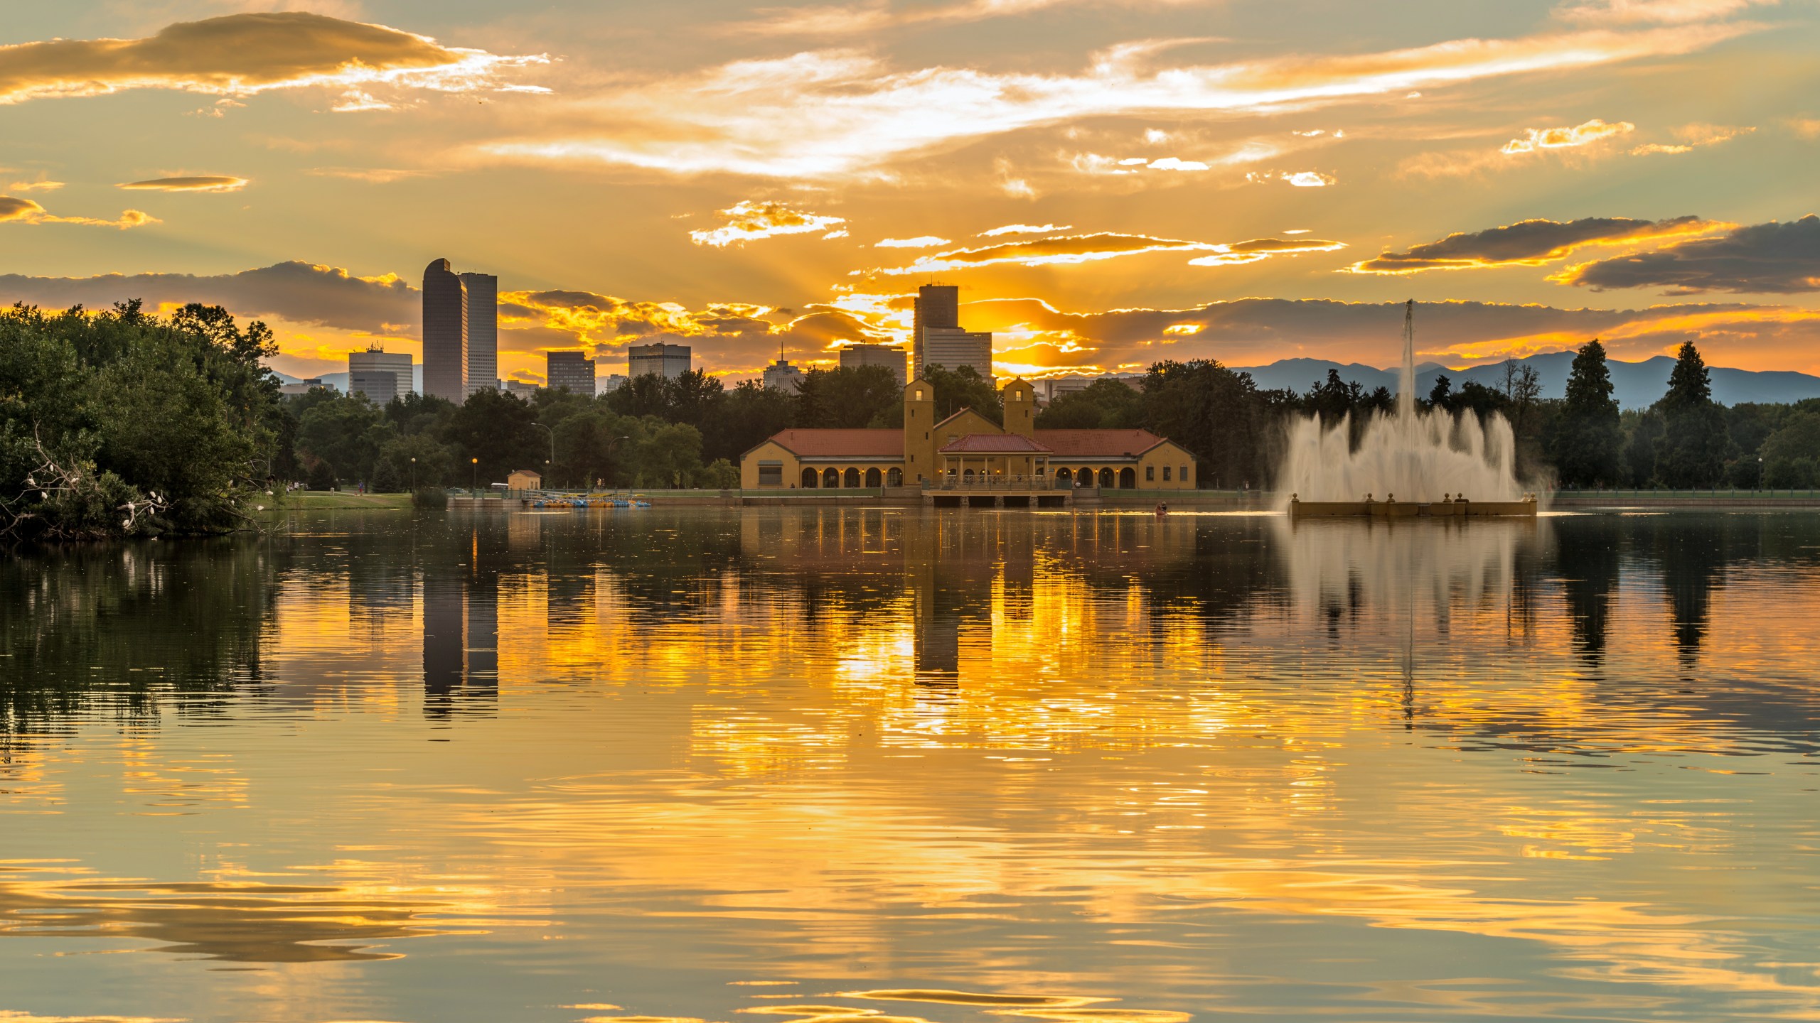
M 0 1019 L 1820 1016 L 1820 515 L 318 513 L 0 608 Z

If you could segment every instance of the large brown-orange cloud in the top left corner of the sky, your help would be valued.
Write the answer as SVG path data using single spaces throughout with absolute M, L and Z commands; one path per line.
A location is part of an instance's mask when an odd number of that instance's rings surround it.
M 548 56 L 499 56 L 304 11 L 178 22 L 147 38 L 47 40 L 0 47 L 0 104 L 180 89 L 248 96 L 298 87 L 470 91 Z

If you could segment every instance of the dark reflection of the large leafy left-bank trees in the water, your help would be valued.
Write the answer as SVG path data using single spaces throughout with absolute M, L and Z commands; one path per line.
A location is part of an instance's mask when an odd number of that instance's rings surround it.
M 113 703 L 153 717 L 173 694 L 258 681 L 277 588 L 251 537 L 73 548 L 0 566 L 0 734 Z M 182 714 L 207 712 L 184 699 Z

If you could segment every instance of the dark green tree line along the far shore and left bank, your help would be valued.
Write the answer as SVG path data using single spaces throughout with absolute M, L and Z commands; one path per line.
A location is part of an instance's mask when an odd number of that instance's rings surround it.
M 741 455 L 779 430 L 903 424 L 903 391 L 879 366 L 810 370 L 788 393 L 690 371 L 601 397 L 480 391 L 457 406 L 410 393 L 379 406 L 331 390 L 280 395 L 264 366 L 275 353 L 264 324 L 240 328 L 213 306 L 0 313 L 0 539 L 231 530 L 289 481 L 397 491 L 539 470 L 553 486 L 732 488 Z M 932 366 L 926 379 L 939 415 L 1003 419 L 997 388 L 974 370 Z M 1307 391 L 1261 390 L 1210 359 L 1158 362 L 1134 382 L 1061 395 L 1036 424 L 1145 428 L 1192 451 L 1205 486 L 1269 488 L 1287 417 L 1360 430 L 1396 406 L 1387 388 L 1338 371 Z M 1720 406 L 1691 342 L 1647 410 L 1618 408 L 1596 339 L 1578 349 L 1563 399 L 1542 399 L 1534 371 L 1507 362 L 1496 386 L 1441 377 L 1420 404 L 1503 415 L 1520 471 L 1562 486 L 1820 484 L 1820 400 Z

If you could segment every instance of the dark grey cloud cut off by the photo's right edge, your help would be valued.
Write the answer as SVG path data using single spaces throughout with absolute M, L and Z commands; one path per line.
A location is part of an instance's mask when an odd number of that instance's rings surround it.
M 1551 280 L 1603 291 L 1663 288 L 1667 295 L 1820 291 L 1820 217 L 1751 224 L 1720 238 L 1571 266 Z

